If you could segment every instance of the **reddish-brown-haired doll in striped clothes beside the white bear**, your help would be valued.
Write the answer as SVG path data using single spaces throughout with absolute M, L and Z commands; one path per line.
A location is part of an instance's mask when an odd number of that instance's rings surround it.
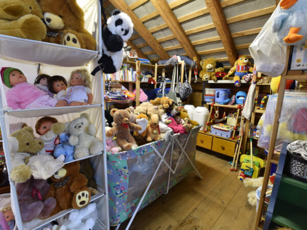
M 38 139 L 42 140 L 45 144 L 44 148 L 46 154 L 52 155 L 55 146 L 60 143 L 58 134 L 50 130 L 50 127 L 55 123 L 58 123 L 55 118 L 43 117 L 35 124 L 36 133 L 40 135 Z

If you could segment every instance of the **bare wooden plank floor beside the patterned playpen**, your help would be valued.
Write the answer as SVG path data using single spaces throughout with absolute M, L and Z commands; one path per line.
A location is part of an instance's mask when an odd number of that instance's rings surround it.
M 244 187 L 230 171 L 230 158 L 223 158 L 196 150 L 195 164 L 203 179 L 190 173 L 141 210 L 130 229 L 252 229 L 256 208 L 247 194 L 255 189 Z

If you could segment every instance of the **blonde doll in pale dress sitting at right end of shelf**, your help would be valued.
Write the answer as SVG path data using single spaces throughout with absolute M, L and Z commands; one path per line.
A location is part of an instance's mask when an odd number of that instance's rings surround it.
M 71 73 L 69 88 L 65 100 L 69 106 L 87 105 L 93 101 L 90 73 L 86 69 L 77 69 Z

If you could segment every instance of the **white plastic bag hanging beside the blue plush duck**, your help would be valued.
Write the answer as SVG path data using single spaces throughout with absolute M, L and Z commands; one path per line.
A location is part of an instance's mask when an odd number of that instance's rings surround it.
M 272 32 L 276 15 L 275 10 L 249 47 L 257 71 L 271 77 L 281 75 L 286 67 L 287 57 L 287 45 L 281 44 L 277 40 L 277 34 Z

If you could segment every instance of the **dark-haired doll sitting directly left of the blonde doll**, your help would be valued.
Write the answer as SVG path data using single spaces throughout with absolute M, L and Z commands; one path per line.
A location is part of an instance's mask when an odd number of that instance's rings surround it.
M 59 106 L 67 106 L 65 101 L 67 81 L 64 77 L 55 75 L 48 80 L 48 88 L 55 96 Z

